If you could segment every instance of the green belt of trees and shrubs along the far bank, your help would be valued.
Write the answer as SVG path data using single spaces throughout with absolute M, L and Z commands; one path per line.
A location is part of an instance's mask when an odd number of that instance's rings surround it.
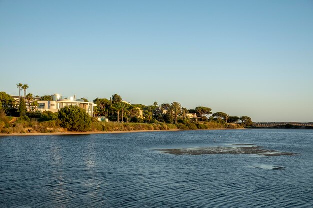
M 26 94 L 29 86 L 21 83 L 16 86 L 19 92 L 24 91 L 24 96 L 20 97 L 20 103 L 17 105 L 11 96 L 0 92 L 1 133 L 234 129 L 253 124 L 248 116 L 230 116 L 224 112 L 212 113 L 211 108 L 204 106 L 187 109 L 177 101 L 160 105 L 156 101 L 152 105 L 130 104 L 122 100 L 118 94 L 112 95 L 109 99 L 93 100 L 96 104 L 93 116 L 102 116 L 109 119 L 109 122 L 91 118 L 78 106 L 66 106 L 56 113 L 39 112 L 38 101 L 34 100 L 32 93 Z M 84 97 L 81 99 L 87 101 Z M 52 100 L 52 97 L 44 95 L 40 100 Z M 210 114 L 212 115 L 208 118 Z

